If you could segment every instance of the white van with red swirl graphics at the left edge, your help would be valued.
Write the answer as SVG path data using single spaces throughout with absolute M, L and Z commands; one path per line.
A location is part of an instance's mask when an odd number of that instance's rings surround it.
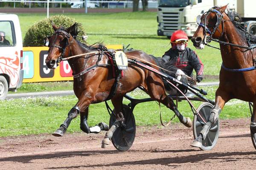
M 0 99 L 16 91 L 23 81 L 23 45 L 19 18 L 0 13 Z

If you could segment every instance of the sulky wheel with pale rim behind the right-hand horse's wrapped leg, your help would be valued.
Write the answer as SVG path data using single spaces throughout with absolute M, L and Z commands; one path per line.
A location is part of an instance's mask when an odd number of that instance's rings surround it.
M 203 103 L 198 107 L 198 113 L 203 117 L 204 120 L 208 120 L 211 111 L 213 109 L 213 105 L 210 103 Z M 199 135 L 200 131 L 203 129 L 204 121 L 200 118 L 200 116 L 195 115 L 193 120 L 193 134 L 194 138 Z M 218 141 L 219 134 L 219 121 L 212 125 L 207 134 L 206 138 L 203 140 L 203 146 L 200 147 L 201 150 L 210 150 L 212 149 Z

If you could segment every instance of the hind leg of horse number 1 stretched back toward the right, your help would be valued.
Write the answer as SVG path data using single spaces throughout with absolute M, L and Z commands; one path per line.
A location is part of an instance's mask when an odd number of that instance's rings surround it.
M 159 79 L 157 82 L 157 78 L 154 78 L 154 83 L 151 83 L 152 79 L 149 81 L 149 86 L 148 86 L 148 94 L 151 96 L 151 98 L 157 100 L 158 102 L 162 103 L 165 105 L 167 108 L 171 109 L 180 122 L 185 125 L 186 127 L 191 127 L 192 122 L 189 117 L 184 117 L 182 114 L 177 109 L 177 106 L 173 102 L 172 98 L 168 97 L 164 91 L 163 84 L 157 85 L 157 83 L 161 82 L 162 80 Z

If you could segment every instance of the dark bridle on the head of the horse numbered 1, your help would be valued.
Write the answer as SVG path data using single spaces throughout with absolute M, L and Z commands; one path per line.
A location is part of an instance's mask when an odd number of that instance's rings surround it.
M 70 38 L 70 35 L 66 32 L 66 31 L 63 31 L 63 30 L 56 30 L 54 34 L 59 34 L 61 35 L 62 37 L 64 37 L 64 40 L 66 40 L 66 45 L 62 48 L 61 46 L 58 46 L 58 45 L 55 45 L 55 41 L 56 41 L 56 38 L 54 40 L 54 44 L 49 46 L 49 47 L 57 47 L 59 49 L 61 49 L 61 56 L 58 57 L 58 59 L 56 60 L 56 63 L 58 65 L 58 63 L 60 63 L 62 61 L 62 59 L 64 58 L 64 54 L 65 54 L 65 50 L 66 50 L 66 47 L 67 46 L 70 46 L 70 43 L 68 42 L 69 41 L 69 38 Z M 70 49 L 70 47 L 69 47 Z

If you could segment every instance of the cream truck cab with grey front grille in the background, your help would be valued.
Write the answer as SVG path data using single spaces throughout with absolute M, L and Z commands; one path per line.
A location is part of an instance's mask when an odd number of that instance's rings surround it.
M 158 0 L 157 35 L 169 38 L 174 31 L 182 30 L 192 37 L 198 28 L 196 17 L 199 14 L 228 3 L 230 10 L 236 8 L 236 0 Z

